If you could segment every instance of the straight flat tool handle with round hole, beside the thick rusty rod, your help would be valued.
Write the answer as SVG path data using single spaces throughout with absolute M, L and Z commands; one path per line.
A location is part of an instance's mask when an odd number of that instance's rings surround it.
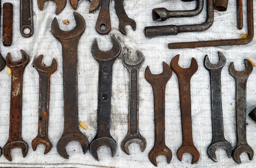
M 25 28 L 29 33 L 25 34 Z M 32 0 L 20 0 L 20 34 L 23 37 L 31 37 L 34 33 Z

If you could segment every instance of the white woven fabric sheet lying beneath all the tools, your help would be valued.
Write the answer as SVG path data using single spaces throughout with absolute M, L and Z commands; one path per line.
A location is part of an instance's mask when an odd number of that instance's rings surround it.
M 8 2 L 2 0 L 3 3 Z M 9 1 L 10 2 L 10 1 Z M 151 85 L 145 80 L 144 72 L 147 65 L 150 66 L 153 74 L 163 71 L 163 61 L 170 64 L 172 58 L 180 54 L 179 65 L 189 67 L 192 57 L 198 61 L 198 71 L 191 79 L 191 101 L 192 101 L 192 129 L 193 140 L 201 156 L 199 161 L 191 165 L 192 155 L 184 154 L 180 162 L 177 159 L 177 149 L 182 143 L 181 122 L 180 122 L 180 100 L 177 77 L 173 73 L 166 85 L 166 145 L 172 150 L 172 161 L 167 164 L 164 156 L 157 157 L 158 167 L 179 167 L 179 168 L 253 168 L 256 158 L 250 161 L 246 153 L 241 154 L 242 164 L 237 164 L 232 158 L 228 158 L 226 151 L 220 149 L 216 155 L 218 162 L 213 162 L 207 155 L 207 147 L 212 141 L 212 122 L 210 106 L 210 81 L 209 72 L 204 68 L 204 56 L 209 55 L 212 63 L 218 62 L 217 51 L 221 51 L 227 58 L 227 64 L 221 73 L 222 107 L 224 120 L 225 138 L 233 148 L 236 145 L 236 95 L 235 80 L 230 76 L 228 68 L 234 61 L 237 70 L 244 69 L 244 58 L 250 58 L 256 62 L 255 39 L 244 46 L 221 46 L 195 49 L 168 49 L 170 42 L 217 40 L 240 38 L 243 32 L 247 32 L 247 8 L 244 1 L 244 28 L 236 28 L 236 1 L 228 4 L 225 12 L 215 11 L 215 21 L 211 28 L 204 32 L 180 33 L 176 36 L 164 36 L 146 38 L 144 35 L 145 26 L 157 26 L 166 24 L 195 24 L 203 23 L 206 18 L 206 4 L 204 9 L 196 17 L 172 18 L 165 22 L 154 22 L 151 10 L 157 7 L 166 7 L 169 10 L 191 10 L 195 9 L 196 2 L 181 2 L 179 0 L 125 0 L 125 10 L 129 17 L 137 23 L 136 31 L 130 26 L 126 27 L 127 35 L 123 35 L 119 29 L 119 20 L 114 10 L 114 1 L 110 2 L 111 25 L 113 34 L 122 45 L 122 52 L 113 65 L 113 87 L 111 102 L 111 135 L 116 140 L 117 149 L 115 157 L 111 157 L 108 147 L 101 147 L 98 150 L 100 161 L 96 161 L 88 150 L 82 153 L 79 142 L 70 142 L 66 149 L 69 159 L 63 159 L 58 155 L 56 144 L 61 137 L 64 127 L 63 112 L 63 79 L 62 79 L 62 50 L 61 44 L 51 33 L 51 22 L 56 16 L 56 5 L 53 1 L 46 2 L 44 10 L 38 9 L 37 1 L 33 1 L 34 11 L 34 35 L 30 38 L 23 38 L 19 30 L 19 1 L 12 1 L 14 11 L 13 22 L 13 43 L 11 47 L 4 47 L 1 43 L 1 54 L 6 57 L 10 52 L 13 60 L 21 58 L 20 49 L 26 51 L 30 62 L 26 66 L 23 79 L 23 107 L 22 107 L 22 137 L 29 145 L 29 151 L 25 158 L 22 157 L 20 148 L 12 149 L 12 162 L 3 156 L 0 157 L 0 166 L 5 167 L 116 167 L 116 168 L 142 168 L 154 165 L 148 159 L 148 153 L 154 145 L 154 101 Z M 206 2 L 204 2 L 206 3 Z M 57 16 L 60 28 L 70 30 L 76 23 L 73 18 L 73 9 L 70 3 L 64 11 Z M 91 54 L 93 39 L 97 38 L 99 48 L 108 50 L 111 48 L 110 35 L 100 35 L 95 30 L 95 23 L 99 10 L 89 14 L 89 2 L 80 0 L 77 12 L 86 21 L 86 30 L 81 36 L 78 46 L 78 90 L 79 90 L 79 122 L 85 122 L 87 130 L 80 127 L 87 136 L 89 142 L 96 134 L 97 116 L 97 92 L 98 92 L 98 63 Z M 62 20 L 70 20 L 68 26 Z M 2 18 L 1 18 L 2 20 Z M 2 25 L 2 23 L 1 23 Z M 2 32 L 2 28 L 1 28 Z M 136 50 L 140 50 L 145 56 L 145 63 L 142 65 L 139 74 L 140 88 L 140 133 L 147 140 L 147 147 L 143 153 L 137 144 L 129 147 L 131 155 L 126 155 L 120 148 L 128 129 L 128 70 L 122 65 L 122 56 L 128 53 L 136 57 Z M 40 54 L 44 54 L 43 62 L 49 65 L 54 57 L 57 60 L 58 69 L 51 76 L 50 107 L 49 107 L 49 140 L 52 142 L 52 150 L 44 155 L 44 146 L 38 145 L 36 151 L 32 150 L 31 142 L 38 133 L 38 90 L 39 76 L 33 68 L 33 61 Z M 11 75 L 7 75 L 7 67 L 0 72 L 0 146 L 5 145 L 9 135 L 9 108 L 10 108 L 10 85 Z M 250 75 L 247 82 L 247 114 L 255 108 L 255 80 L 256 72 Z M 75 82 L 75 81 L 74 81 Z M 247 117 L 247 141 L 256 149 L 256 123 Z

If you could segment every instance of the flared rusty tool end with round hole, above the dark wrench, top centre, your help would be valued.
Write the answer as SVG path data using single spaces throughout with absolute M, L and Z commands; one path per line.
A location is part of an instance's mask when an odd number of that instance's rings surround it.
M 102 0 L 101 9 L 99 11 L 99 16 L 95 27 L 99 34 L 107 34 L 111 31 L 109 0 Z

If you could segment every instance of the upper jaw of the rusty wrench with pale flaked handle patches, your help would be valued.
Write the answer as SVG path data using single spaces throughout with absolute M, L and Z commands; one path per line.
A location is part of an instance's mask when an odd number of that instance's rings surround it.
M 6 56 L 6 65 L 8 67 L 17 67 L 17 66 L 26 65 L 27 63 L 29 63 L 28 54 L 26 54 L 26 52 L 23 51 L 23 50 L 20 50 L 20 52 L 21 52 L 22 59 L 17 60 L 17 61 L 12 61 L 11 53 L 7 54 L 7 56 Z

